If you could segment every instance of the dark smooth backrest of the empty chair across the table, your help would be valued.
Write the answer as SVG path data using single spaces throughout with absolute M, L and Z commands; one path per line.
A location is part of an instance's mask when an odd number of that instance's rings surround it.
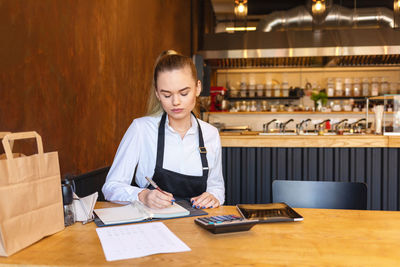
M 357 182 L 288 181 L 272 182 L 273 202 L 294 208 L 367 209 L 367 185 Z

